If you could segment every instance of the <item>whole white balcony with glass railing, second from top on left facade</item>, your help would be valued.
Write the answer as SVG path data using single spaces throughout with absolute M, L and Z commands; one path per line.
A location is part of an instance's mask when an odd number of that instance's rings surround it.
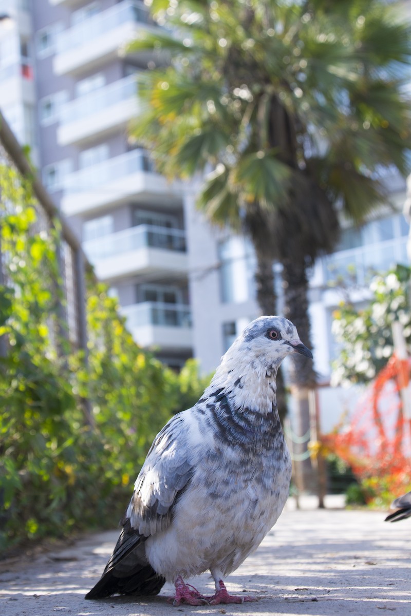
M 85 144 L 99 134 L 125 129 L 138 110 L 137 85 L 134 75 L 99 87 L 62 105 L 59 145 Z

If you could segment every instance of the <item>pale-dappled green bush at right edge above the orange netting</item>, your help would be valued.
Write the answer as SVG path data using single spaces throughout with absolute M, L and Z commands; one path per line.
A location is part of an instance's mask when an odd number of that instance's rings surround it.
M 333 313 L 332 331 L 340 344 L 333 362 L 333 384 L 366 383 L 373 379 L 393 354 L 391 325 L 399 321 L 411 344 L 411 269 L 404 265 L 373 278 L 372 299 L 364 309 L 341 302 Z

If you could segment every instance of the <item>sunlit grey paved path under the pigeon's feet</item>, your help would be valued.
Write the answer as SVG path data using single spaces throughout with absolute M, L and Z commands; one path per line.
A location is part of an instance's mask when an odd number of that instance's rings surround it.
M 374 511 L 293 511 L 288 505 L 258 551 L 227 578 L 229 591 L 259 598 L 235 606 L 172 607 L 166 602 L 169 585 L 141 601 L 84 601 L 118 531 L 94 534 L 33 562 L 0 562 L 0 614 L 411 616 L 411 519 L 388 524 L 384 517 Z M 212 594 L 208 575 L 195 586 Z

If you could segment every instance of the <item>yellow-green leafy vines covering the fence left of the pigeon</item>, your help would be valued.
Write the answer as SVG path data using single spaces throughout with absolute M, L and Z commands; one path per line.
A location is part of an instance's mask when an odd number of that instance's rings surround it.
M 208 379 L 177 375 L 132 339 L 87 280 L 87 362 L 65 325 L 59 229 L 30 184 L 0 166 L 0 547 L 115 525 L 153 437 Z M 56 228 L 57 226 L 57 228 Z

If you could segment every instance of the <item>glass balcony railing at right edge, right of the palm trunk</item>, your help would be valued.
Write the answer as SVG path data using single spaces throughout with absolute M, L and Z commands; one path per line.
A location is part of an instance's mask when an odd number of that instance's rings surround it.
M 325 280 L 367 285 L 376 272 L 388 270 L 396 263 L 408 264 L 407 240 L 404 236 L 378 244 L 360 246 L 332 254 L 325 259 Z

